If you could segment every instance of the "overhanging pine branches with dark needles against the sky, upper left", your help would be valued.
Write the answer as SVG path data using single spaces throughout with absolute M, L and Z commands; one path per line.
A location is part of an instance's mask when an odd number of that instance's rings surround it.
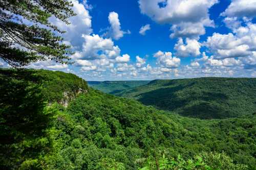
M 0 0 L 0 57 L 14 67 L 48 59 L 70 63 L 69 46 L 52 30 L 64 32 L 48 19 L 54 16 L 68 24 L 75 15 L 72 6 L 67 0 Z

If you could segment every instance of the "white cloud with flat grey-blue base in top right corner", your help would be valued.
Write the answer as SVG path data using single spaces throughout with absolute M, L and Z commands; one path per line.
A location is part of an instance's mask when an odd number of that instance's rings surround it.
M 256 1 L 232 0 L 231 4 L 221 15 L 228 17 L 256 17 Z

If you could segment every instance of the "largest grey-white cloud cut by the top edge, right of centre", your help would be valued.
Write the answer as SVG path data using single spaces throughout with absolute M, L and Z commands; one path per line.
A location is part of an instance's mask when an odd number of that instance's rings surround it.
M 214 27 L 208 10 L 218 0 L 139 0 L 142 14 L 158 23 L 169 23 L 174 37 L 198 37 L 205 34 L 204 27 Z

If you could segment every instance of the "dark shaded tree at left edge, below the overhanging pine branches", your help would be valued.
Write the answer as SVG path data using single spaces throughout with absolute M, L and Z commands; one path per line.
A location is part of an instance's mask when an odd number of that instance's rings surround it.
M 49 152 L 44 130 L 50 113 L 41 93 L 41 77 L 33 72 L 1 71 L 0 74 L 0 165 L 18 169 L 38 165 L 37 157 Z M 34 166 L 35 165 L 35 166 Z

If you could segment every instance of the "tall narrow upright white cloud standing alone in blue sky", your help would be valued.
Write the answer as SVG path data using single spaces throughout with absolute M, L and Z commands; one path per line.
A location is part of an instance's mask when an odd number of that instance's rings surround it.
M 109 32 L 106 33 L 106 35 L 109 35 L 115 40 L 119 40 L 123 37 L 124 34 L 130 34 L 130 31 L 122 31 L 121 30 L 121 23 L 118 18 L 118 13 L 116 12 L 110 12 L 109 13 L 109 22 L 110 22 L 110 28 Z

